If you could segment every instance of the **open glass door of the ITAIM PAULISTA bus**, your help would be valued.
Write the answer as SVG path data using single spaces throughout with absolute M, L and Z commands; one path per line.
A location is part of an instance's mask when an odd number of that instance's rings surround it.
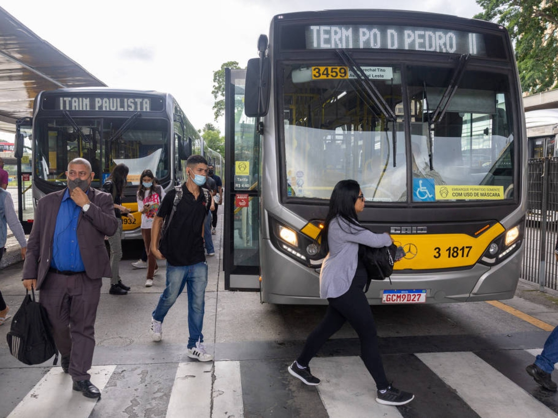
M 17 197 L 12 196 L 17 206 L 17 214 L 25 234 L 30 234 L 33 226 L 33 191 L 31 188 L 31 131 L 32 119 L 16 121 L 16 138 L 13 156 L 17 163 Z M 17 200 L 17 202 L 16 202 Z

